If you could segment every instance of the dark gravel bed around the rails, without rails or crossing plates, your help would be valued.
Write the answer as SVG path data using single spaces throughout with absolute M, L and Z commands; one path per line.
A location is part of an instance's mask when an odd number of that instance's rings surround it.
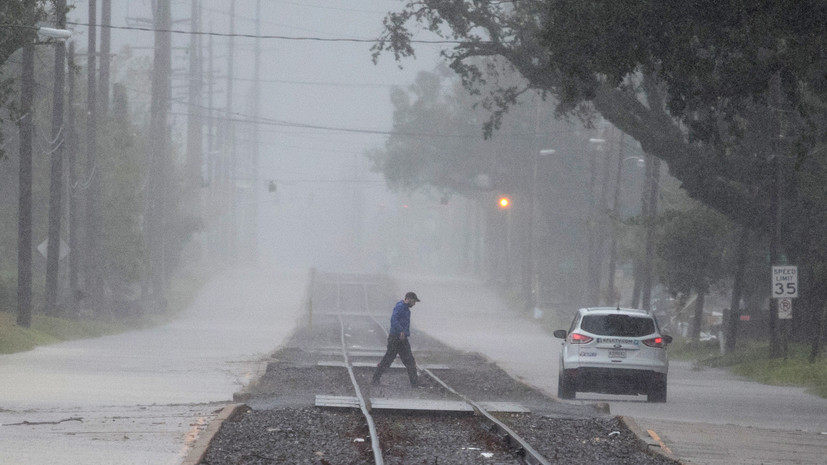
M 382 321 L 387 315 L 381 315 Z M 353 396 L 347 370 L 320 367 L 336 360 L 321 352 L 340 344 L 338 319 L 314 316 L 312 328 L 300 327 L 274 353 L 267 370 L 246 392 L 243 414 L 225 422 L 201 462 L 216 464 L 372 464 L 365 419 L 358 409 L 314 407 L 317 394 Z M 383 347 L 381 331 L 348 326 L 348 344 L 356 350 Z M 510 401 L 531 413 L 496 416 L 551 463 L 675 464 L 649 455 L 617 418 L 590 405 L 562 403 L 519 381 L 479 354 L 462 353 L 413 331 L 418 365 L 444 364 L 434 373 L 474 401 Z M 351 362 L 360 360 L 352 357 Z M 375 363 L 375 359 L 373 359 Z M 370 385 L 372 368 L 354 368 L 367 398 L 447 399 L 449 394 L 421 374 L 424 388 L 408 386 L 404 370 L 389 370 L 379 387 Z M 457 400 L 450 397 L 451 400 Z M 373 410 L 386 464 L 517 464 L 514 451 L 480 417 L 468 413 Z

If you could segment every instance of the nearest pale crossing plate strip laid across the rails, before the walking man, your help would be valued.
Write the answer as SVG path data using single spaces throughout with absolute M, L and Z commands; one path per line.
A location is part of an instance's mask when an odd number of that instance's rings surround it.
M 431 399 L 371 398 L 370 405 L 376 410 L 425 410 L 439 412 L 473 412 L 466 402 Z M 489 412 L 529 413 L 530 410 L 513 402 L 479 402 Z M 359 400 L 350 396 L 316 396 L 316 407 L 359 408 Z

